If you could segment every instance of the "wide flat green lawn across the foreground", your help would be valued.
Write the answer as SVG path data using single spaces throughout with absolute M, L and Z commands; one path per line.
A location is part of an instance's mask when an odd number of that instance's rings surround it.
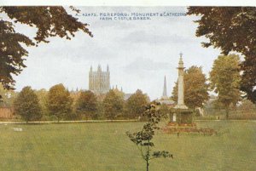
M 143 123 L 0 125 L 3 171 L 141 171 L 145 163 L 125 135 Z M 225 134 L 157 133 L 156 150 L 174 159 L 155 159 L 151 171 L 255 171 L 256 122 L 197 122 Z M 14 128 L 22 128 L 15 131 Z

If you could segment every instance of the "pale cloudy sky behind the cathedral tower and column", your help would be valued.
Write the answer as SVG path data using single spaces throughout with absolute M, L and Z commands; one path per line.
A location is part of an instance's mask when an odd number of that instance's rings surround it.
M 173 16 L 183 14 L 185 7 L 77 7 L 81 10 L 79 21 L 90 24 L 94 35 L 89 37 L 79 31 L 72 40 L 51 37 L 50 43 L 26 48 L 29 56 L 26 68 L 15 77 L 15 88 L 25 86 L 34 89 L 46 88 L 63 83 L 69 90 L 89 88 L 90 66 L 96 70 L 110 70 L 112 86 L 123 88 L 127 94 L 143 90 L 151 100 L 160 98 L 166 76 L 167 94 L 177 80 L 179 54 L 183 53 L 184 66 L 202 66 L 203 72 L 211 71 L 212 63 L 220 50 L 202 48 L 205 37 L 195 37 L 196 16 Z M 73 14 L 68 8 L 67 11 Z M 156 14 L 150 20 L 101 20 L 101 14 L 123 13 Z M 96 14 L 96 16 L 85 16 Z M 160 16 L 169 14 L 169 16 Z M 171 14 L 171 16 L 170 16 Z M 176 14 L 177 15 L 177 14 Z M 34 37 L 36 29 L 17 25 L 20 31 Z

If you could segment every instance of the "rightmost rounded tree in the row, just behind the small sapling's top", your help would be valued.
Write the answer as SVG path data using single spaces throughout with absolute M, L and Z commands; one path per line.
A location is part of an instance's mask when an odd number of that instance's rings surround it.
M 145 105 L 148 104 L 148 98 L 143 91 L 137 89 L 136 93 L 131 94 L 126 101 L 126 110 L 129 117 L 136 118 L 142 115 Z

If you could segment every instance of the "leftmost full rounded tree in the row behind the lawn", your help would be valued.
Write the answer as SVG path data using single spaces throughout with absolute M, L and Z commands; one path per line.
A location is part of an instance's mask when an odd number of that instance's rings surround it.
M 38 96 L 31 87 L 22 88 L 14 103 L 15 114 L 20 115 L 26 123 L 37 121 L 42 117 Z

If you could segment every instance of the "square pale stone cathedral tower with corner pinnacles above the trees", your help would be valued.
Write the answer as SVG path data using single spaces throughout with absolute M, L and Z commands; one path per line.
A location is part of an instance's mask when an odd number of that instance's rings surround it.
M 92 71 L 90 66 L 89 72 L 89 90 L 95 94 L 106 94 L 110 89 L 110 72 L 102 71 L 102 66 L 98 66 L 97 71 Z

